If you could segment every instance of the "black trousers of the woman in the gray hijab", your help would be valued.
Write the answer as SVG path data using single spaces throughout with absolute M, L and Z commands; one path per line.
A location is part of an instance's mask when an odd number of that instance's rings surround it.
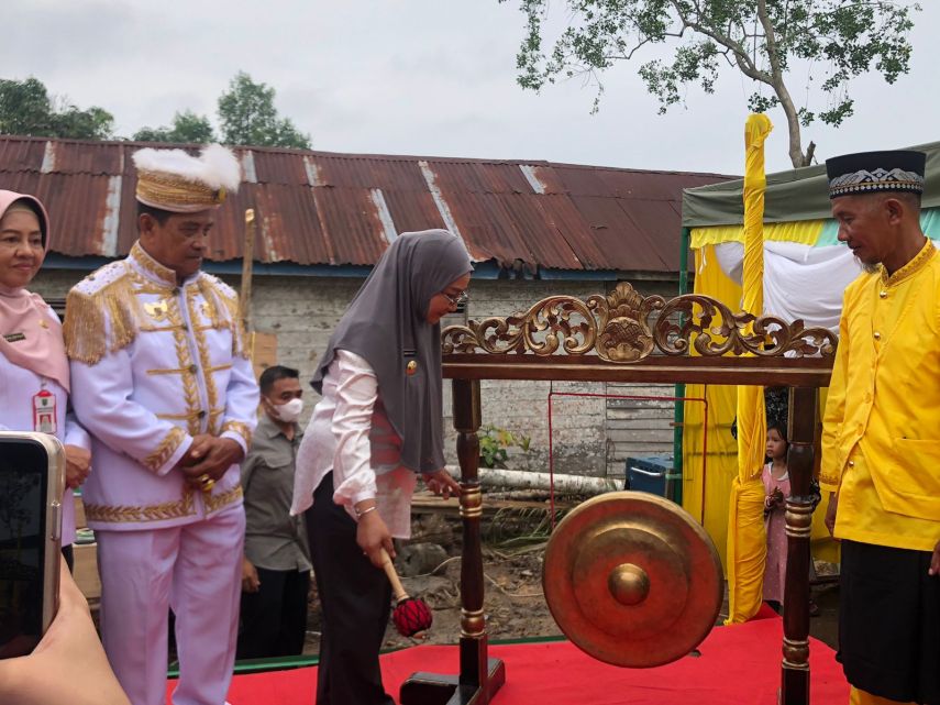
M 356 522 L 333 504 L 328 474 L 307 510 L 307 533 L 323 631 L 317 705 L 394 705 L 381 684 L 378 653 L 391 612 L 391 586 L 385 573 L 363 555 Z

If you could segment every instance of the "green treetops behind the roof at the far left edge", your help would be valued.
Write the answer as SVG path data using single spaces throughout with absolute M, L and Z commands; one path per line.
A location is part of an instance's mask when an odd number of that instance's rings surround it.
M 0 133 L 37 137 L 107 140 L 114 131 L 114 117 L 93 106 L 80 110 L 66 99 L 49 97 L 36 78 L 0 78 Z

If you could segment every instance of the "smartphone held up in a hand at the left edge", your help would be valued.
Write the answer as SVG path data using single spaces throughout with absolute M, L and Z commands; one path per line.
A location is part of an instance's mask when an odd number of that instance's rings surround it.
M 0 658 L 31 653 L 58 609 L 65 451 L 0 431 Z

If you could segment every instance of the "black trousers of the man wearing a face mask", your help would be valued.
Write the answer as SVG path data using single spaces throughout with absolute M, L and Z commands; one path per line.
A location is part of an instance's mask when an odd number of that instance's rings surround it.
M 310 572 L 256 570 L 261 581 L 258 592 L 242 593 L 237 658 L 303 653 Z

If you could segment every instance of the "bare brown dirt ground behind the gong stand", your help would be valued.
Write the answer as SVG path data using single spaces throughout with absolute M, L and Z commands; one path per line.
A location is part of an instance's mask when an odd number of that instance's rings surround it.
M 516 513 L 520 514 L 520 513 Z M 484 608 L 490 640 L 523 639 L 561 635 L 542 593 L 542 557 L 548 533 L 546 513 L 523 511 L 511 516 L 502 511 L 485 517 L 484 533 Z M 402 576 L 402 584 L 412 596 L 431 607 L 434 624 L 421 643 L 455 643 L 460 638 L 460 524 L 455 516 L 425 514 L 414 524 L 412 541 L 435 541 L 443 544 L 449 558 L 427 572 Z M 399 561 L 400 562 L 400 561 Z M 436 570 L 435 570 L 436 569 Z M 403 571 L 400 571 L 403 572 Z M 822 566 L 821 573 L 829 571 Z M 810 619 L 811 636 L 836 647 L 839 590 L 837 583 L 815 585 L 811 594 L 819 606 L 819 616 Z M 719 624 L 727 616 L 727 596 Z M 308 639 L 305 653 L 319 649 L 320 613 L 316 594 L 311 595 Z M 385 648 L 397 649 L 419 643 L 401 637 L 389 624 Z

